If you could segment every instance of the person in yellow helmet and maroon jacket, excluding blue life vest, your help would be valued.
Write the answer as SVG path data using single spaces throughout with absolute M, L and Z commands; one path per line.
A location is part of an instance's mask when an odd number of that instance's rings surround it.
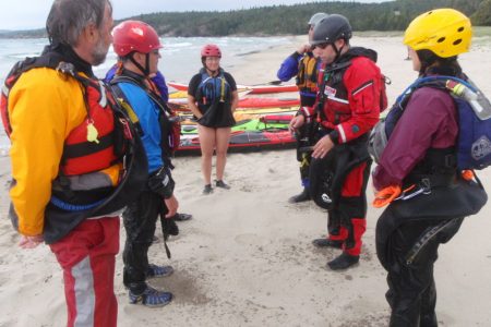
M 468 51 L 470 39 L 468 17 L 453 9 L 438 9 L 409 24 L 404 44 L 419 77 L 466 80 L 457 56 Z M 376 226 L 376 253 L 387 270 L 393 327 L 438 326 L 433 265 L 439 246 L 487 199 L 486 192 L 457 170 L 459 130 L 452 96 L 429 84 L 415 88 L 393 107 L 394 112 L 403 111 L 373 172 L 374 189 L 382 191 L 375 204 L 385 198 L 383 193 L 398 196 Z M 387 117 L 385 124 L 388 121 Z

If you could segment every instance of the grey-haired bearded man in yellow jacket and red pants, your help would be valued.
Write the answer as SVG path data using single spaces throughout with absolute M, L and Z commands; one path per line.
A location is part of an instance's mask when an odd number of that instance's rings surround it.
M 117 106 L 92 71 L 106 59 L 111 16 L 108 0 L 56 0 L 47 20 L 50 45 L 23 62 L 2 112 L 20 245 L 45 241 L 56 255 L 68 326 L 117 325 L 115 257 L 128 198 L 116 191 L 131 184 L 121 158 L 124 140 L 134 137 L 120 125 L 124 117 L 115 119 Z

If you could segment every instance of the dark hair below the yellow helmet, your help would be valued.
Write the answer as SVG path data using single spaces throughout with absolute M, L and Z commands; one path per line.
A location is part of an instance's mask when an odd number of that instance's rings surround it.
M 418 50 L 419 61 L 421 62 L 421 69 L 419 70 L 420 76 L 428 74 L 439 74 L 447 76 L 462 75 L 462 68 L 457 61 L 457 56 L 442 58 L 436 56 L 431 50 Z

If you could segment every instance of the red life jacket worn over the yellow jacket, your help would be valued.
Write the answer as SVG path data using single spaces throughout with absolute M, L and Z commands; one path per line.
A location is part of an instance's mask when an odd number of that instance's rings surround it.
M 55 66 L 56 63 L 56 66 Z M 74 71 L 70 63 L 61 62 L 48 57 L 27 58 L 17 62 L 5 78 L 0 99 L 0 111 L 7 135 L 12 133 L 9 119 L 9 93 L 19 77 L 26 71 L 35 68 L 57 69 L 62 73 L 77 80 L 84 90 L 84 101 L 87 117 L 73 129 L 64 141 L 63 156 L 60 162 L 60 172 L 64 175 L 77 175 L 99 171 L 115 165 L 122 155 L 121 146 L 115 145 L 115 104 L 104 84 L 97 80 L 85 77 Z M 88 129 L 97 131 L 97 137 L 88 141 Z

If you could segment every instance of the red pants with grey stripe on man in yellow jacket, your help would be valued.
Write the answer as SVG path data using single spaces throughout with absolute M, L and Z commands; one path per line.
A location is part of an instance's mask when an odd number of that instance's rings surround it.
M 63 268 L 67 326 L 116 327 L 119 217 L 87 219 L 50 247 Z

